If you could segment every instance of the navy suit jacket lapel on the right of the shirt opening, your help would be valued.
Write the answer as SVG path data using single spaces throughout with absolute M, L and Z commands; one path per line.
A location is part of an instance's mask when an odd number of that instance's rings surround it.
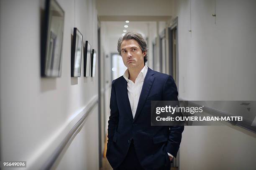
M 141 109 L 144 107 L 146 99 L 148 98 L 149 91 L 150 91 L 151 86 L 152 86 L 152 84 L 154 82 L 154 79 L 155 79 L 155 77 L 153 75 L 154 75 L 154 72 L 151 69 L 148 68 L 147 74 L 145 76 L 145 79 L 144 79 L 144 82 L 143 82 L 143 85 L 142 85 L 141 95 L 140 95 L 140 98 L 139 98 L 139 101 L 138 101 L 138 106 L 137 106 L 137 109 L 136 109 L 136 114 L 135 114 L 135 117 L 133 119 L 133 122 L 136 120 L 138 115 L 141 113 Z M 126 91 L 127 91 L 127 88 L 126 88 Z

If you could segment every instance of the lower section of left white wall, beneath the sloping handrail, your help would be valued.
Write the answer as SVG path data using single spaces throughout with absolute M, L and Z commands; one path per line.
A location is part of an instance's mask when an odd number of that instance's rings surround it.
M 81 131 L 61 158 L 56 170 L 98 170 L 98 109 L 94 107 Z M 105 139 L 103 139 L 105 140 Z

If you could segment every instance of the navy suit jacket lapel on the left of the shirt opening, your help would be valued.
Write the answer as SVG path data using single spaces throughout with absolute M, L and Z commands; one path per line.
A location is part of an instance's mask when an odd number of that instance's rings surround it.
M 128 91 L 127 91 L 127 81 L 125 80 L 125 78 L 122 79 L 122 86 L 121 86 L 120 90 L 121 90 L 120 94 L 122 95 L 125 110 L 126 110 L 127 114 L 130 115 L 129 116 L 130 119 L 133 121 L 133 113 L 131 111 L 131 104 L 129 101 Z

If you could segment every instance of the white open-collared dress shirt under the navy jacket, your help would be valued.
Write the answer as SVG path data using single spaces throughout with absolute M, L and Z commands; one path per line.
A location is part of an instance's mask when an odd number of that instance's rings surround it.
M 128 69 L 126 69 L 125 73 L 123 74 L 123 77 L 127 81 L 128 98 L 130 101 L 133 118 L 135 117 L 135 113 L 138 106 L 138 100 L 141 95 L 141 89 L 142 89 L 143 81 L 146 77 L 147 71 L 148 71 L 148 67 L 144 66 L 141 72 L 138 74 L 137 78 L 135 79 L 135 83 L 133 83 L 133 81 L 129 79 L 130 73 Z M 173 157 L 170 153 L 168 153 L 168 155 Z

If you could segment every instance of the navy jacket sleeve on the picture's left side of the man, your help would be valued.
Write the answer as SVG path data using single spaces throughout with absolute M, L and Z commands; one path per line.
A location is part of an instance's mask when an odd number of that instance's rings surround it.
M 113 141 L 113 136 L 115 134 L 115 128 L 118 125 L 118 106 L 116 101 L 115 80 L 112 81 L 111 96 L 110 96 L 110 117 L 108 121 L 108 143 Z

